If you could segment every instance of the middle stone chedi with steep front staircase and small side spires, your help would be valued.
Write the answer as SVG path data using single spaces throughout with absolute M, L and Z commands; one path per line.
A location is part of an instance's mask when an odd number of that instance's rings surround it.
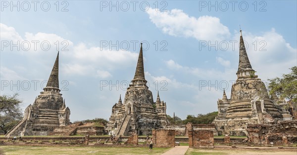
M 165 128 L 169 123 L 166 116 L 166 103 L 161 102 L 159 93 L 153 102 L 152 93 L 148 90 L 141 44 L 132 84 L 127 88 L 124 103 L 120 96 L 118 103 L 112 106 L 105 130 L 115 135 L 147 135 L 152 129 Z

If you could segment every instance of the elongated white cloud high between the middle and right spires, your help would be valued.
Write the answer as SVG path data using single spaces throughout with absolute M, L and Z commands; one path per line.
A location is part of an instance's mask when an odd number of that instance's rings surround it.
M 148 8 L 149 19 L 163 33 L 171 36 L 193 37 L 197 40 L 224 40 L 230 36 L 228 27 L 220 19 L 212 16 L 189 16 L 180 9 L 155 11 Z

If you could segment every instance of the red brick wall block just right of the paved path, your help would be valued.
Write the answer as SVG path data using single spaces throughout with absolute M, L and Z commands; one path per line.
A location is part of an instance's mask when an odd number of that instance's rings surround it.
M 213 148 L 213 131 L 210 130 L 189 130 L 190 148 Z

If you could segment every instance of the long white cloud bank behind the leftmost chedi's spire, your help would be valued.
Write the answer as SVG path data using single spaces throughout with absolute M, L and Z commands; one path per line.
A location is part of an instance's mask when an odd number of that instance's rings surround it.
M 56 34 L 47 34 L 38 32 L 36 34 L 26 32 L 25 36 L 22 37 L 19 33 L 13 28 L 5 24 L 0 24 L 1 28 L 1 40 L 28 41 L 30 43 L 30 50 L 24 51 L 20 49 L 17 51 L 16 48 L 13 49 L 13 52 L 18 52 L 23 54 L 28 59 L 34 60 L 36 64 L 45 64 L 45 59 L 47 57 L 52 57 L 53 53 L 60 50 L 60 60 L 61 70 L 69 75 L 81 75 L 81 76 L 94 76 L 100 78 L 111 77 L 111 70 L 119 69 L 123 66 L 131 66 L 135 64 L 137 60 L 138 53 L 130 51 L 111 51 L 109 49 L 100 49 L 97 46 L 87 47 L 84 43 L 79 43 L 74 45 L 70 40 L 64 39 Z M 32 42 L 33 41 L 33 42 Z M 34 41 L 39 41 L 36 43 L 36 50 L 34 47 Z M 41 43 L 48 42 L 50 45 L 49 51 L 41 49 Z M 28 47 L 25 45 L 25 49 Z M 45 44 L 45 48 L 47 48 Z M 64 50 L 62 50 L 64 48 Z M 7 50 L 10 51 L 10 47 L 7 47 Z M 62 51 L 61 51 L 62 50 Z M 68 51 L 67 51 L 68 50 Z M 5 50 L 4 50 L 5 52 Z M 6 52 L 9 54 L 8 52 Z M 51 67 L 54 60 L 49 60 Z

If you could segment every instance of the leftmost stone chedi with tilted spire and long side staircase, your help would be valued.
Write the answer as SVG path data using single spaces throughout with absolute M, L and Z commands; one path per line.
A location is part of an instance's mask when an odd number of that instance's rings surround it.
M 44 91 L 25 109 L 24 118 L 5 136 L 48 135 L 55 127 L 69 125 L 70 109 L 59 89 L 59 53 Z

